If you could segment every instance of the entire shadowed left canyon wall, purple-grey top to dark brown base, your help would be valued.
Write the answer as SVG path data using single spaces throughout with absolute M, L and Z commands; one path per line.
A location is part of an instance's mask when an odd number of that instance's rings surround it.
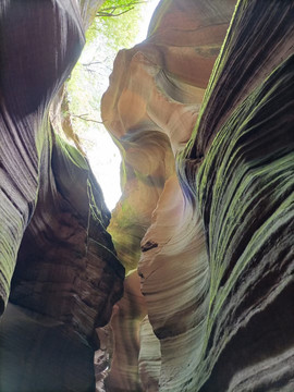
M 1 392 L 94 391 L 95 330 L 123 292 L 100 187 L 48 117 L 94 5 L 0 4 Z

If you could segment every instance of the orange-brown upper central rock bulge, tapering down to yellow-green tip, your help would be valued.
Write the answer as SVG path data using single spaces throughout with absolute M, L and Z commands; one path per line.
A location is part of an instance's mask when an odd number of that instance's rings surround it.
M 162 2 L 148 39 L 114 61 L 101 114 L 124 157 L 124 193 L 109 231 L 127 270 L 137 266 L 138 245 L 174 173 L 174 154 L 192 134 L 233 5 Z

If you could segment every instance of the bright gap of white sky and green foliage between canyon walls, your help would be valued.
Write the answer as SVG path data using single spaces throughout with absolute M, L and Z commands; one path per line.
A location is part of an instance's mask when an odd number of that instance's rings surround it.
M 134 46 L 148 2 L 150 0 L 105 1 L 86 32 L 86 46 L 66 84 L 69 105 L 63 117 L 72 125 L 72 134 L 78 136 L 107 199 L 115 198 L 115 194 L 120 193 L 121 159 L 101 124 L 100 99 L 108 87 L 117 52 Z M 76 144 L 76 137 L 74 140 Z M 118 189 L 114 189 L 115 186 Z M 107 197 L 107 188 L 111 197 Z M 114 201 L 111 203 L 113 207 Z

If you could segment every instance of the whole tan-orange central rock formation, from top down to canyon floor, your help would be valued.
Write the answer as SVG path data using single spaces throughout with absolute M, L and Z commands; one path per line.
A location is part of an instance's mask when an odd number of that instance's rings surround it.
M 127 314 L 136 315 L 133 322 L 127 317 L 127 330 L 121 327 L 118 331 L 114 327 L 114 335 L 124 342 L 117 345 L 117 356 L 125 358 L 127 353 L 133 368 L 127 373 L 125 369 L 119 371 L 113 360 L 108 378 L 108 383 L 115 385 L 111 391 L 158 390 L 157 377 L 163 367 L 161 377 L 176 380 L 172 388 L 182 391 L 187 377 L 183 367 L 200 350 L 208 308 L 207 301 L 201 303 L 203 290 L 208 291 L 208 259 L 203 223 L 185 201 L 174 157 L 193 132 L 232 12 L 232 1 L 162 3 L 148 39 L 119 52 L 110 87 L 102 98 L 103 122 L 124 157 L 123 197 L 109 231 L 126 271 L 139 266 L 145 296 L 145 311 L 139 320 L 135 309 L 142 299 L 136 296 L 127 301 Z M 120 309 L 121 303 L 118 306 Z M 124 308 L 125 304 L 122 315 Z M 138 345 L 138 321 L 146 313 L 156 335 L 144 321 L 138 362 L 138 348 L 132 347 Z M 181 326 L 179 317 L 183 319 Z M 124 324 L 121 320 L 120 326 Z M 179 338 L 171 346 L 172 335 Z M 183 352 L 177 362 L 174 350 Z M 123 360 L 126 359 L 121 359 L 121 364 Z

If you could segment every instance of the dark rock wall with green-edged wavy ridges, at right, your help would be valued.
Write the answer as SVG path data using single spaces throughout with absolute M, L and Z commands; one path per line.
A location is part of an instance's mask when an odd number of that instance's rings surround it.
M 238 3 L 180 159 L 210 266 L 194 390 L 293 389 L 293 11 L 292 1 Z

